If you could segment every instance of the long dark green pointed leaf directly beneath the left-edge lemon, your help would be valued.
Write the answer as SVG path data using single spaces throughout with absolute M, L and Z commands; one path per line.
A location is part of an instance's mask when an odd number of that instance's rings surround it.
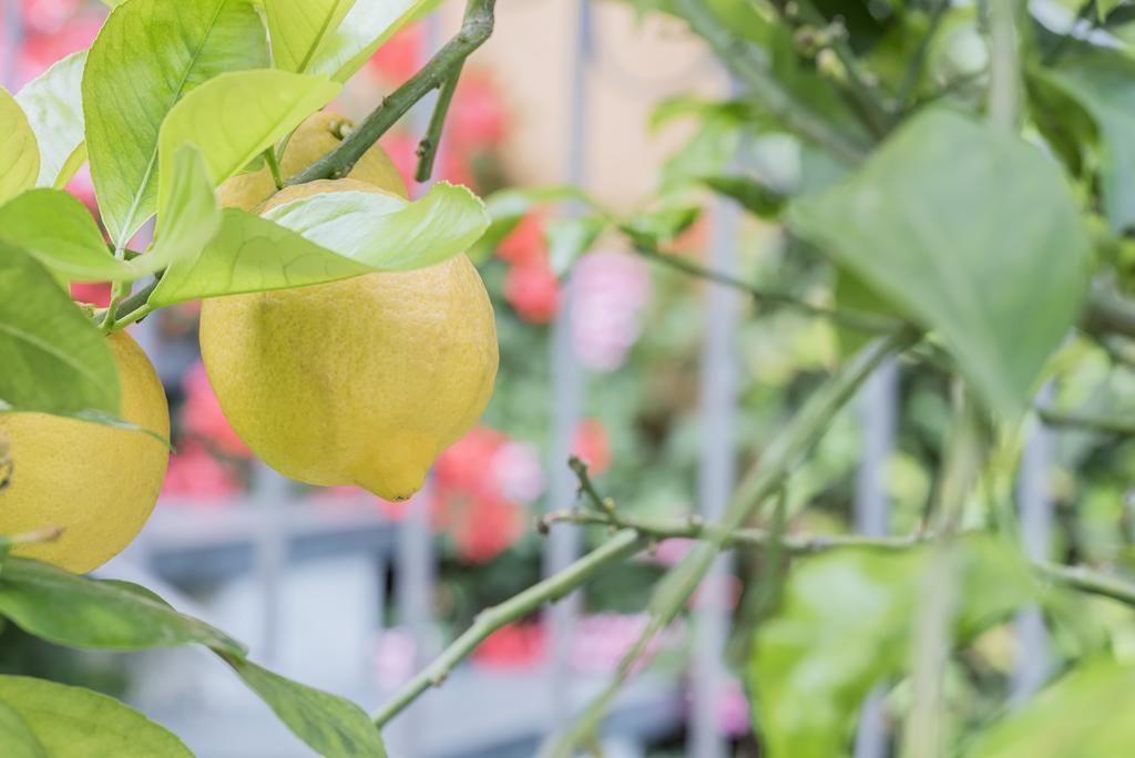
M 0 615 L 30 634 L 75 648 L 141 650 L 196 642 L 244 655 L 239 642 L 165 603 L 27 558 L 9 557 L 0 572 Z

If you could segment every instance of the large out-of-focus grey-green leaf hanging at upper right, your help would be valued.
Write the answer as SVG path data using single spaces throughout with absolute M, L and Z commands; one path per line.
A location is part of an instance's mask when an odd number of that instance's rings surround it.
M 788 222 L 938 330 L 1008 418 L 1027 407 L 1087 281 L 1088 239 L 1057 166 L 944 110 L 917 116 L 849 178 L 794 201 Z

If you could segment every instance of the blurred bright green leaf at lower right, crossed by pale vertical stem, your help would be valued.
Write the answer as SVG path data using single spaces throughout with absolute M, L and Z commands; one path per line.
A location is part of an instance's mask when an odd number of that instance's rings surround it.
M 956 639 L 1036 597 L 1011 547 L 974 537 L 956 549 Z M 757 631 L 749 667 L 755 719 L 771 758 L 847 755 L 864 698 L 909 662 L 932 550 L 846 549 L 792 566 L 783 605 Z

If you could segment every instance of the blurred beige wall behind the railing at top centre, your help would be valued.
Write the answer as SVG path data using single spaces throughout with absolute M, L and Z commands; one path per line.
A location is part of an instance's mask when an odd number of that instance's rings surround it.
M 498 0 L 493 39 L 474 53 L 490 66 L 512 111 L 505 150 L 511 176 L 523 184 L 564 179 L 571 61 L 578 0 Z M 448 2 L 444 28 L 456 28 L 464 2 Z M 674 19 L 637 19 L 622 2 L 595 2 L 595 58 L 588 75 L 587 186 L 627 208 L 648 194 L 662 160 L 690 134 L 689 125 L 647 133 L 661 100 L 697 90 L 724 90 L 708 52 Z

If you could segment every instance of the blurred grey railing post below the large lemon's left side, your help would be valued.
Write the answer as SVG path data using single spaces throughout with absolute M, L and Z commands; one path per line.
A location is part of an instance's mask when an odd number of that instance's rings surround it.
M 280 598 L 284 564 L 287 561 L 286 521 L 289 500 L 288 480 L 257 462 L 252 486 L 252 504 L 257 511 L 254 571 L 260 584 L 261 641 L 257 650 L 264 663 L 274 664 L 279 657 Z

